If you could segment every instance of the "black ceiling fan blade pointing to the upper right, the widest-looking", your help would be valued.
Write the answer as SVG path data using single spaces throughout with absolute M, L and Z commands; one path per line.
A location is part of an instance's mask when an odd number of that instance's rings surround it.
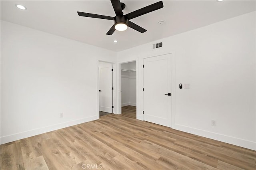
M 159 2 L 156 2 L 154 4 L 151 4 L 149 6 L 146 6 L 144 8 L 140 8 L 139 10 L 136 10 L 134 12 L 130 12 L 129 14 L 126 14 L 125 17 L 128 19 L 128 20 L 131 20 L 132 18 L 136 18 L 138 16 L 142 16 L 144 14 L 147 14 L 149 12 L 152 12 L 152 11 L 155 11 L 155 10 L 158 10 L 160 8 L 163 8 L 164 7 L 164 4 L 162 1 L 159 1 Z

